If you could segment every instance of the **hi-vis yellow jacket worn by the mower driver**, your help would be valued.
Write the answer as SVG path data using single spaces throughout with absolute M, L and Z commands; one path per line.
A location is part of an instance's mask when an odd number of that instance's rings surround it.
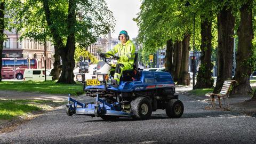
M 132 41 L 128 40 L 125 45 L 122 45 L 122 43 L 118 43 L 114 46 L 114 48 L 107 53 L 115 55 L 120 57 L 119 60 L 117 60 L 117 63 L 123 63 L 128 64 L 130 63 L 133 66 L 134 58 L 135 58 L 135 46 L 132 43 Z

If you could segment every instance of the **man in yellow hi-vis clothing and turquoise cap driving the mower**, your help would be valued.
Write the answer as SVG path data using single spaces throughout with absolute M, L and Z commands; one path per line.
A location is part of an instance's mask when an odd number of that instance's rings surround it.
M 117 64 L 112 65 L 112 67 L 115 67 L 114 79 L 111 82 L 113 86 L 119 85 L 120 77 L 124 70 L 133 69 L 133 63 L 135 58 L 135 46 L 129 39 L 127 31 L 120 31 L 118 35 L 118 40 L 121 43 L 118 43 L 114 46 L 112 50 L 107 52 L 112 55 L 115 55 L 117 53 L 117 56 L 119 57 L 119 59 L 117 60 Z M 103 56 L 105 54 L 101 53 L 100 55 Z

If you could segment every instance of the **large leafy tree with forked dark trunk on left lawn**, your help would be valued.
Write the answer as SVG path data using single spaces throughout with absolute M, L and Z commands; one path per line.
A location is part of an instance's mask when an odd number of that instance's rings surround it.
M 28 0 L 15 8 L 18 14 L 13 17 L 20 21 L 17 27 L 23 29 L 23 37 L 53 42 L 55 53 L 62 60 L 62 73 L 57 83 L 75 83 L 76 46 L 86 48 L 97 37 L 106 35 L 115 20 L 103 0 Z M 55 56 L 59 60 L 59 56 Z M 54 69 L 59 67 L 59 62 L 55 64 Z

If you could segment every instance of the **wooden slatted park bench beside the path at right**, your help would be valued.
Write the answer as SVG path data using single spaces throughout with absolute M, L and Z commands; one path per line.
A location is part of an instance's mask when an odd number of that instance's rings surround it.
M 214 110 L 230 110 L 229 107 L 229 92 L 231 85 L 236 82 L 235 80 L 227 80 L 223 83 L 220 93 L 206 93 L 205 96 L 211 97 L 212 102 L 209 106 L 206 106 L 205 109 L 214 109 Z M 215 97 L 219 100 L 219 107 L 215 107 Z M 223 102 L 221 102 L 221 99 Z

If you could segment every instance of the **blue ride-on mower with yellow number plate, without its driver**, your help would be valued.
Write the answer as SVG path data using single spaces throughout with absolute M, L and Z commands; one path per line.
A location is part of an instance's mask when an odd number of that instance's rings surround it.
M 133 70 L 125 70 L 120 78 L 119 85 L 113 81 L 111 60 L 117 56 L 105 53 L 101 55 L 103 61 L 97 65 L 97 73 L 92 79 L 84 79 L 83 89 L 86 96 L 95 97 L 93 103 L 82 103 L 68 98 L 67 115 L 97 116 L 105 120 L 114 120 L 119 117 L 134 119 L 149 119 L 152 111 L 165 109 L 166 115 L 179 118 L 183 114 L 183 103 L 175 93 L 175 84 L 172 76 L 167 72 L 143 71 L 137 69 L 137 57 Z

